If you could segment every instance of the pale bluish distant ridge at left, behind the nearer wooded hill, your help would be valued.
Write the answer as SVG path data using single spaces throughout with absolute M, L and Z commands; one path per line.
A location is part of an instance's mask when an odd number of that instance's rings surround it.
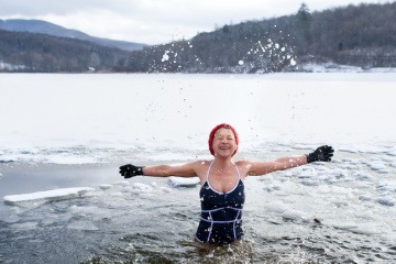
M 89 41 L 98 45 L 117 47 L 123 51 L 139 51 L 147 46 L 142 43 L 133 43 L 125 41 L 114 41 L 101 37 L 90 36 L 86 33 L 76 30 L 68 30 L 63 26 L 42 21 L 42 20 L 0 20 L 0 30 L 14 31 L 14 32 L 30 32 L 48 34 L 53 36 L 69 37 L 81 41 Z

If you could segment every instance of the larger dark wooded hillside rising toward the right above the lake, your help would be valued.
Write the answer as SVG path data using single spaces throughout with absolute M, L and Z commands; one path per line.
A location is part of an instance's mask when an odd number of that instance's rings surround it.
M 270 73 L 304 63 L 396 67 L 396 3 L 360 4 L 224 25 L 132 54 L 128 72 Z

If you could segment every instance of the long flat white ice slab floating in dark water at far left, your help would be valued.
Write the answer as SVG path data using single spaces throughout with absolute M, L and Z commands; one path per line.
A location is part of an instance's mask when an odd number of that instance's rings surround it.
M 18 206 L 24 202 L 46 202 L 56 200 L 67 200 L 81 197 L 81 195 L 95 190 L 90 187 L 78 188 L 62 188 L 46 191 L 37 191 L 23 195 L 4 196 L 3 201 L 6 205 Z

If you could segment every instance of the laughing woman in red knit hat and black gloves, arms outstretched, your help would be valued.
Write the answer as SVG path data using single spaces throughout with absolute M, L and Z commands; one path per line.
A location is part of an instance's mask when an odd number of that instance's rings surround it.
M 283 157 L 272 162 L 233 162 L 238 151 L 238 133 L 230 124 L 222 123 L 209 134 L 209 151 L 212 161 L 196 161 L 184 165 L 120 167 L 124 178 L 136 175 L 145 176 L 198 176 L 201 184 L 201 218 L 196 239 L 201 243 L 229 244 L 243 237 L 242 208 L 244 204 L 243 179 L 248 176 L 261 176 L 307 163 L 329 162 L 333 155 L 331 146 L 320 146 L 308 155 Z

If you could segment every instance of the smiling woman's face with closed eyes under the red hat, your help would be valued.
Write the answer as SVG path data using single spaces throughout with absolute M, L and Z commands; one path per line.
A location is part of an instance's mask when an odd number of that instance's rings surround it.
M 216 131 L 212 146 L 215 156 L 232 156 L 237 150 L 235 135 L 232 130 L 221 128 Z

